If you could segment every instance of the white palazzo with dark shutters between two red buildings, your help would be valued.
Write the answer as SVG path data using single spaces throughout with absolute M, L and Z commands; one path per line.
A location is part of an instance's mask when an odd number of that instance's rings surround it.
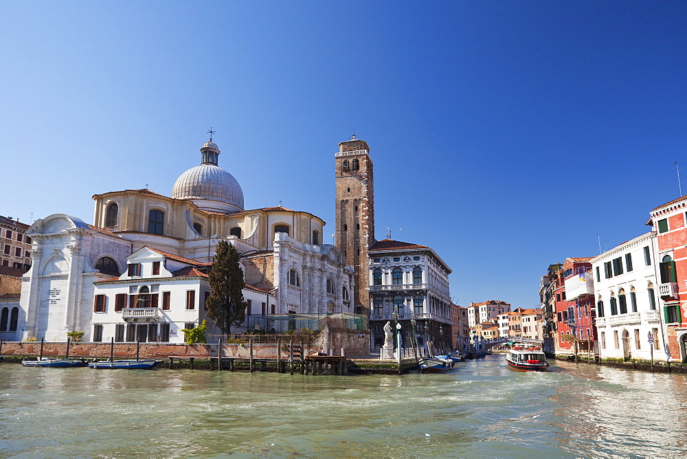
M 653 346 L 653 358 L 666 360 L 652 237 L 643 234 L 591 260 L 602 359 L 649 360 Z

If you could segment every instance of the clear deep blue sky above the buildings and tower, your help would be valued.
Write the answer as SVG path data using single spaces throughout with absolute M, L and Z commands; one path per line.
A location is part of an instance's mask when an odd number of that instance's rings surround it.
M 378 239 L 433 247 L 458 304 L 532 307 L 550 263 L 679 197 L 686 26 L 666 1 L 5 1 L 0 214 L 92 223 L 93 194 L 169 195 L 212 126 L 247 208 L 333 234 L 355 131 Z

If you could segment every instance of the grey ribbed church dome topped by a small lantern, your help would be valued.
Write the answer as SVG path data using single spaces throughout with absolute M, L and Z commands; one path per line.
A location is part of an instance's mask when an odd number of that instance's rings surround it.
M 172 187 L 172 198 L 190 199 L 203 210 L 237 212 L 243 210 L 243 190 L 223 168 L 217 166 L 220 153 L 210 140 L 201 148 L 202 164 L 179 176 Z

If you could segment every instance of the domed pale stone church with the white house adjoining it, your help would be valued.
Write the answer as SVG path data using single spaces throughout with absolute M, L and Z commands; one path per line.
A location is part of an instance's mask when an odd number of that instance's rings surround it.
M 322 243 L 324 221 L 281 206 L 245 210 L 220 153 L 205 143 L 201 164 L 179 176 L 170 197 L 95 194 L 93 225 L 65 214 L 36 221 L 27 231 L 33 264 L 21 289 L 23 337 L 64 341 L 83 331 L 86 341 L 181 342 L 179 331 L 205 317 L 207 269 L 221 240 L 241 254 L 253 321 L 240 328 L 269 324 L 270 315 L 353 313 L 352 269 Z

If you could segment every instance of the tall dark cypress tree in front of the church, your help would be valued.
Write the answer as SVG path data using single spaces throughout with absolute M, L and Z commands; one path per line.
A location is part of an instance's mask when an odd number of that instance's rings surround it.
M 207 280 L 210 282 L 210 297 L 207 298 L 207 317 L 224 333 L 232 333 L 232 326 L 238 326 L 246 318 L 246 303 L 243 301 L 243 271 L 238 266 L 238 251 L 227 241 L 217 245 L 215 261 Z

